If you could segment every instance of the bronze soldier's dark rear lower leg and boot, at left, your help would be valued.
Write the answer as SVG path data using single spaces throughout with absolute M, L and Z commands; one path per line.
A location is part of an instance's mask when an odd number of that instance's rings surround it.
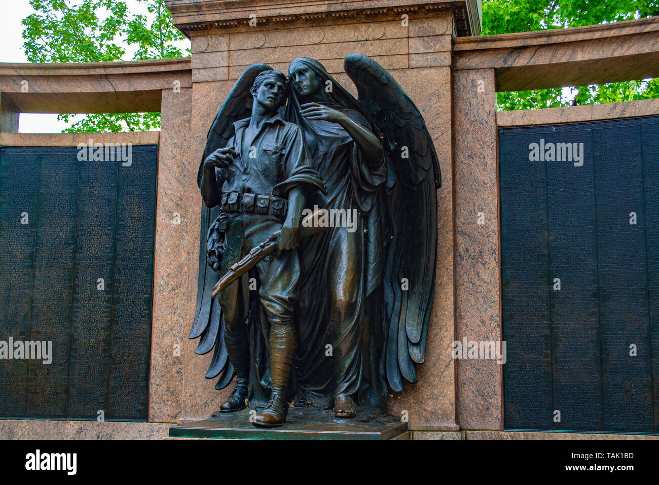
M 219 406 L 218 412 L 234 412 L 247 407 L 245 399 L 247 398 L 247 387 L 249 383 L 249 354 L 247 349 L 247 332 L 246 326 L 238 323 L 237 325 L 227 325 L 224 335 L 227 353 L 231 359 L 231 364 L 236 372 L 236 385 L 229 399 Z M 213 414 L 217 415 L 217 412 Z

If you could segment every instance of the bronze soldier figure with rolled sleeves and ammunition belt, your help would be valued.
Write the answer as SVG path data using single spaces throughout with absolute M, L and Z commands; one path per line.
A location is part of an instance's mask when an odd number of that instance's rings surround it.
M 286 419 L 287 389 L 297 338 L 293 311 L 297 300 L 300 264 L 296 249 L 305 195 L 324 189 L 311 168 L 301 129 L 279 113 L 287 99 L 287 79 L 279 71 L 260 73 L 251 88 L 252 115 L 233 123 L 235 133 L 227 146 L 204 160 L 201 192 L 207 207 L 219 205 L 223 222 L 221 274 L 246 253 L 281 230 L 277 255 L 256 265 L 258 298 L 270 324 L 270 375 L 272 393 L 253 418 L 257 426 L 278 426 Z M 283 224 L 282 224 L 283 223 Z M 218 224 L 219 228 L 219 224 Z M 250 372 L 245 317 L 239 302 L 241 284 L 219 295 L 225 320 L 225 346 L 236 373 L 236 384 L 220 411 L 246 406 Z

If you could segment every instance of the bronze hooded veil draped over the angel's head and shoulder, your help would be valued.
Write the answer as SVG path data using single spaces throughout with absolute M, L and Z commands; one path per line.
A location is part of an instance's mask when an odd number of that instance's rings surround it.
M 311 57 L 298 57 L 289 65 L 289 100 L 286 106 L 285 119 L 291 121 L 296 125 L 299 125 L 308 133 L 314 134 L 314 129 L 311 125 L 300 115 L 301 104 L 311 102 L 312 100 L 304 98 L 299 92 L 295 82 L 291 79 L 291 72 L 303 65 L 308 67 L 316 73 L 316 76 L 320 80 L 322 89 L 325 89 L 327 81 L 331 82 L 331 90 L 327 93 L 329 96 L 329 108 L 347 108 L 349 110 L 355 110 L 356 112 L 361 113 L 369 121 L 371 127 L 373 128 L 373 123 L 370 121 L 370 115 L 360 106 L 358 101 L 355 99 L 355 96 L 350 94 L 339 82 L 328 73 L 327 69 L 316 59 Z M 335 106 L 332 106 L 335 105 Z M 337 106 L 336 106 L 337 105 Z M 307 141 L 309 141 L 307 139 Z M 311 148 L 311 147 L 310 147 Z

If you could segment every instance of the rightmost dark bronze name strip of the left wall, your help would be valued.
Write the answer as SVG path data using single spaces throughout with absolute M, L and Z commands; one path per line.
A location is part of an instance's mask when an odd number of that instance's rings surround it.
M 107 416 L 146 419 L 156 216 L 157 146 L 120 166 Z

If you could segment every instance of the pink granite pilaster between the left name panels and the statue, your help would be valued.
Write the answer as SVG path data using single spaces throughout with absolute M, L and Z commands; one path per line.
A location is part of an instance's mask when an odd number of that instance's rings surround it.
M 196 277 L 198 221 L 196 166 L 190 161 L 192 89 L 163 90 L 158 152 L 154 307 L 151 335 L 149 420 L 176 422 L 183 410 L 183 364 L 194 313 L 188 278 Z M 193 173 L 194 172 L 194 173 Z M 198 212 L 198 210 L 197 210 Z M 198 218 L 198 213 L 196 214 Z

